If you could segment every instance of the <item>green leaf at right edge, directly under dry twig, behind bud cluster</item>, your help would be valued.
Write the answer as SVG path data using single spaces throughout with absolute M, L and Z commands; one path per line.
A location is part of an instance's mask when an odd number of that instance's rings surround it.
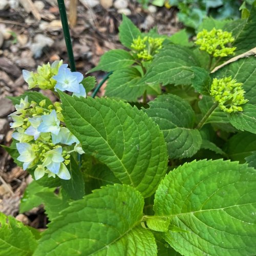
M 212 76 L 222 78 L 232 76 L 237 82 L 243 83 L 245 98 L 250 104 L 256 104 L 256 58 L 251 56 L 234 61 L 217 70 Z

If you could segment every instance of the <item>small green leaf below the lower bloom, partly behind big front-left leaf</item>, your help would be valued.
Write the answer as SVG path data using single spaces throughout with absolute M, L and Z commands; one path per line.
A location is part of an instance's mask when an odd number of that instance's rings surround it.
M 36 196 L 44 203 L 48 219 L 52 221 L 60 215 L 60 211 L 69 206 L 69 202 L 53 192 L 39 192 Z

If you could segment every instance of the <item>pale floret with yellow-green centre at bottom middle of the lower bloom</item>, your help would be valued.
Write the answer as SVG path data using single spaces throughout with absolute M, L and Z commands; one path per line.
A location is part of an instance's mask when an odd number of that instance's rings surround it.
M 52 173 L 58 174 L 60 163 L 63 161 L 62 147 L 57 147 L 54 148 L 54 150 L 45 153 L 45 160 L 42 163 L 42 166 L 49 169 Z

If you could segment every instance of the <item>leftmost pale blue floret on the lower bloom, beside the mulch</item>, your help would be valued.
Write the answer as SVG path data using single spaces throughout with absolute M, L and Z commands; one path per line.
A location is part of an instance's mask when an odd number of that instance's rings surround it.
M 20 154 L 17 160 L 23 162 L 23 169 L 26 170 L 33 165 L 33 161 L 36 158 L 34 148 L 29 143 L 16 143 L 16 147 Z

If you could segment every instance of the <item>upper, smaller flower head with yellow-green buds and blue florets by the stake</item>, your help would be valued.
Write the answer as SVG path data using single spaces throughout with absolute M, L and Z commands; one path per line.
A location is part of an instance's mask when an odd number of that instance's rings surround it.
M 86 97 L 86 89 L 80 83 L 83 75 L 79 72 L 71 72 L 67 64 L 62 64 L 62 60 L 54 61 L 39 66 L 37 73 L 23 70 L 23 77 L 29 85 L 29 89 L 40 88 L 42 90 L 60 90 L 62 92 L 73 92 L 77 97 Z

